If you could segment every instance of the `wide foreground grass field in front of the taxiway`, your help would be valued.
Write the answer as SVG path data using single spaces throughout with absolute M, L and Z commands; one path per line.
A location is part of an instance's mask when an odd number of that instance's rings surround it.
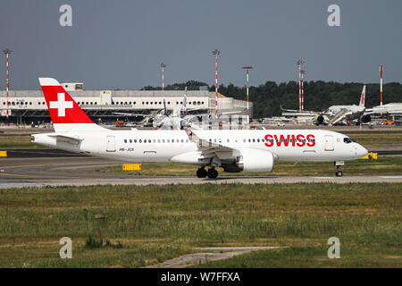
M 401 267 L 401 191 L 400 183 L 0 189 L 0 267 L 139 267 L 208 246 L 288 248 L 202 266 Z M 59 257 L 64 236 L 72 259 Z M 340 259 L 327 257 L 332 236 Z

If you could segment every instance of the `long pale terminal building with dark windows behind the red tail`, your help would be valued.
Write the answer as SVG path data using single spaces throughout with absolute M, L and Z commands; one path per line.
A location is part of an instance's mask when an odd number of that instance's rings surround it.
M 163 100 L 167 109 L 180 107 L 183 103 L 183 90 L 84 90 L 83 83 L 62 83 L 71 97 L 94 120 L 94 122 L 113 122 L 127 119 L 139 121 L 138 116 L 122 114 L 149 114 L 162 110 Z M 215 113 L 215 92 L 207 90 L 188 90 L 187 108 L 197 109 L 197 113 Z M 7 105 L 8 101 L 8 105 Z M 237 112 L 247 114 L 247 102 L 218 94 L 218 113 Z M 253 104 L 250 103 L 250 115 Z M 42 90 L 0 91 L 0 122 L 50 122 L 45 97 Z

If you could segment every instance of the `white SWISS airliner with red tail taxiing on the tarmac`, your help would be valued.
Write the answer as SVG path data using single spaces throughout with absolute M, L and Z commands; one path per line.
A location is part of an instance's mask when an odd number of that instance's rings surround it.
M 92 122 L 57 80 L 40 78 L 54 133 L 32 141 L 125 162 L 195 164 L 197 177 L 225 172 L 272 172 L 275 162 L 335 162 L 365 156 L 353 139 L 329 130 L 108 130 Z M 209 167 L 208 171 L 205 167 Z

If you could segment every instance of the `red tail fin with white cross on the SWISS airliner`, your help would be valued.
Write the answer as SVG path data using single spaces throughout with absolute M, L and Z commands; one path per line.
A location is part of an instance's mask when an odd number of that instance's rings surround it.
M 55 132 L 104 129 L 90 120 L 57 80 L 39 78 L 39 82 Z

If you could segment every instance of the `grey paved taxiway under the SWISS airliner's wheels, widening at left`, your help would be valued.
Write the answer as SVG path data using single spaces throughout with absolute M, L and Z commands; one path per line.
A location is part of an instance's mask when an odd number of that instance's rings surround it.
M 395 176 L 220 176 L 215 180 L 197 177 L 133 176 L 96 172 L 96 169 L 121 165 L 120 161 L 89 156 L 6 157 L 0 159 L 0 189 L 20 187 L 60 187 L 94 185 L 165 185 L 165 184 L 226 184 L 226 183 L 314 183 L 314 182 L 402 182 Z M 32 154 L 31 154 L 32 155 Z

